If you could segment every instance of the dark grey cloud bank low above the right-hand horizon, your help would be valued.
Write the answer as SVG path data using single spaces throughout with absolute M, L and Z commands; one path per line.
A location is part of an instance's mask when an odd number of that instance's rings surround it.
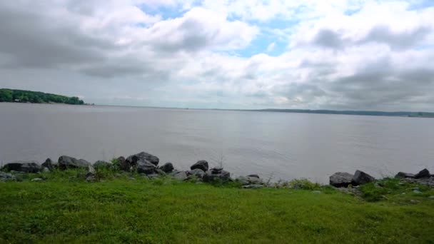
M 403 106 L 414 106 L 415 101 L 433 98 L 434 68 L 398 70 L 385 58 L 328 83 L 325 89 L 345 109 L 401 110 Z

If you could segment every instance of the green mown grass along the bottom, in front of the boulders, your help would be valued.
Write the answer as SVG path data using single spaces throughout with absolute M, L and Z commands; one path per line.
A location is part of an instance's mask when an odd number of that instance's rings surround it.
M 0 183 L 0 243 L 434 243 L 433 190 L 392 179 L 381 183 L 392 190 L 368 184 L 356 198 L 104 173 L 97 183 L 81 171 Z

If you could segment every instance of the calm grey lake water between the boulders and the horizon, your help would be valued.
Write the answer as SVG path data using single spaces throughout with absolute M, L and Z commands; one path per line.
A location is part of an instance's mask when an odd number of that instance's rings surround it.
M 110 160 L 146 151 L 186 170 L 309 178 L 434 171 L 434 119 L 122 106 L 0 103 L 0 162 Z

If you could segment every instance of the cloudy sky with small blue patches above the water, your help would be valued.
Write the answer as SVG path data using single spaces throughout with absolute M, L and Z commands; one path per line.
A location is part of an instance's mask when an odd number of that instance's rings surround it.
M 434 111 L 434 1 L 0 1 L 0 88 L 122 106 Z

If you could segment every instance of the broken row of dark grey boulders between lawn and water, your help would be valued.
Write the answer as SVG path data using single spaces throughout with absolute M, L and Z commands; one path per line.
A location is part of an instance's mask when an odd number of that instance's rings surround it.
M 41 164 L 37 161 L 14 161 L 6 163 L 0 169 L 0 182 L 16 181 L 16 173 L 48 173 L 54 170 L 65 171 L 71 168 L 86 170 L 86 181 L 93 182 L 96 181 L 96 171 L 104 168 L 112 171 L 138 173 L 145 178 L 172 177 L 179 181 L 194 179 L 195 181 L 204 183 L 235 181 L 242 188 L 283 188 L 288 185 L 288 182 L 270 183 L 269 181 L 263 181 L 257 174 L 231 178 L 231 173 L 224 171 L 223 167 L 210 168 L 208 162 L 204 160 L 194 163 L 189 171 L 179 171 L 170 162 L 158 166 L 159 161 L 157 156 L 146 152 L 136 153 L 127 158 L 121 156 L 111 162 L 96 161 L 93 164 L 84 159 L 76 159 L 70 156 L 60 156 L 57 162 L 47 158 Z M 430 174 L 426 168 L 415 174 L 399 172 L 395 178 L 400 178 L 400 181 L 418 183 L 434 188 L 434 175 Z M 349 190 L 350 193 L 355 193 L 360 185 L 376 181 L 373 176 L 363 171 L 355 171 L 354 174 L 337 172 L 330 176 L 329 180 L 329 185 L 334 188 L 345 192 L 348 192 L 348 189 L 353 189 Z M 34 178 L 32 181 L 44 181 L 44 179 Z M 381 185 L 378 185 L 378 187 L 381 187 Z M 292 188 L 296 188 L 296 185 L 292 185 Z

